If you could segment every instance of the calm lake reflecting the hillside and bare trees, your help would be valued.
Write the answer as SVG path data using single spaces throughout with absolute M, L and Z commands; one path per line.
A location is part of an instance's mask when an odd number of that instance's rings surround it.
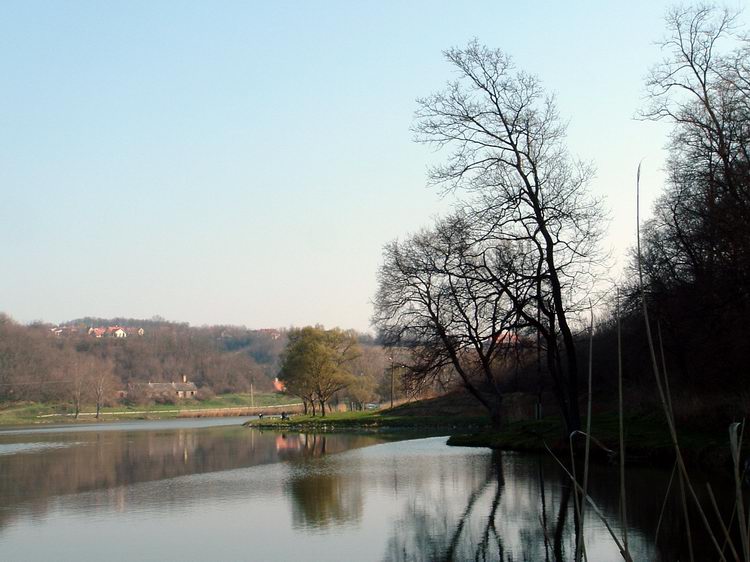
M 551 458 L 242 421 L 0 431 L 0 559 L 572 559 L 573 499 Z M 629 472 L 635 560 L 684 552 L 674 501 L 654 545 L 669 477 Z M 620 534 L 617 471 L 594 466 L 590 489 Z M 621 559 L 591 510 L 584 536 L 589 560 Z

